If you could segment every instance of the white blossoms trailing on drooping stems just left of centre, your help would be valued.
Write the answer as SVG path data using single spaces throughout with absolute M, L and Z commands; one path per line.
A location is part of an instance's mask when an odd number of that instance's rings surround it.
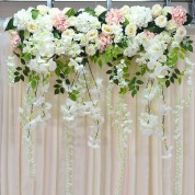
M 83 77 L 80 77 L 78 82 L 76 82 L 76 84 L 72 87 L 73 90 L 79 91 L 77 102 L 67 99 L 65 105 L 61 106 L 61 112 L 67 124 L 72 123 L 72 121 L 79 117 L 88 116 L 90 118 L 90 123 L 93 123 L 90 125 L 92 135 L 89 136 L 88 144 L 92 148 L 100 148 L 100 130 L 102 124 L 104 123 L 104 118 L 101 115 L 101 108 L 99 107 L 99 95 L 102 88 L 102 80 L 96 79 L 96 85 L 89 89 L 89 87 L 91 87 L 91 81 L 88 79 L 89 72 L 85 71 Z M 85 84 L 88 84 L 87 88 L 87 88 L 84 88 Z M 89 101 L 85 100 L 85 94 L 89 95 Z

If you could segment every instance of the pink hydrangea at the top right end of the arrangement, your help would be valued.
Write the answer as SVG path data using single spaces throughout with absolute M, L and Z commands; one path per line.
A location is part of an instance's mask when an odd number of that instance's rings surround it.
M 187 20 L 187 16 L 186 16 L 186 10 L 181 7 L 181 5 L 177 5 L 175 8 L 173 8 L 171 10 L 171 15 L 172 15 L 172 20 L 179 25 L 181 26 L 182 24 L 184 24 Z

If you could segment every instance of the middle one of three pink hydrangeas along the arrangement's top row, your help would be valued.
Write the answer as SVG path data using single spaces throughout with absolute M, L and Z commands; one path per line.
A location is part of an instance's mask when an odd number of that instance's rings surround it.
M 122 12 L 117 9 L 111 9 L 105 18 L 107 24 L 119 24 L 125 22 L 125 18 L 122 15 Z

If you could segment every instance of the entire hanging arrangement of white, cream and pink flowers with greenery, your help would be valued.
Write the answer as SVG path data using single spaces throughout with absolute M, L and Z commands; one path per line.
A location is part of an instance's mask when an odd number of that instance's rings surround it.
M 179 128 L 183 106 L 190 102 L 193 64 L 187 58 L 193 51 L 193 42 L 186 35 L 185 25 L 192 16 L 182 7 L 154 4 L 106 10 L 97 5 L 76 11 L 65 8 L 38 5 L 21 10 L 8 19 L 13 55 L 9 57 L 9 80 L 13 84 L 25 81 L 26 93 L 20 108 L 24 142 L 28 148 L 31 174 L 34 174 L 34 130 L 37 124 L 50 118 L 50 103 L 46 100 L 49 90 L 65 94 L 61 105 L 67 142 L 71 145 L 72 123 L 78 117 L 90 118 L 91 134 L 88 145 L 100 148 L 104 116 L 100 99 L 102 79 L 96 78 L 93 67 L 107 74 L 107 106 L 117 128 L 118 154 L 122 158 L 122 193 L 126 145 L 131 131 L 130 112 L 124 96 L 141 96 L 142 111 L 139 126 L 144 135 L 154 135 L 163 144 L 162 158 L 171 157 L 172 146 L 165 137 L 165 115 L 175 113 L 174 138 L 176 144 L 175 191 L 181 194 L 182 137 Z M 15 59 L 20 66 L 15 66 Z M 179 60 L 183 66 L 179 66 Z M 187 97 L 180 97 L 176 107 L 167 105 L 164 91 L 172 83 L 187 78 Z M 51 79 L 55 84 L 50 87 Z M 118 89 L 118 102 L 112 105 L 113 90 Z M 160 107 L 152 110 L 158 99 Z M 159 117 L 161 116 L 161 117 Z M 70 147 L 70 146 L 69 146 Z M 69 149 L 67 193 L 71 194 L 72 150 Z

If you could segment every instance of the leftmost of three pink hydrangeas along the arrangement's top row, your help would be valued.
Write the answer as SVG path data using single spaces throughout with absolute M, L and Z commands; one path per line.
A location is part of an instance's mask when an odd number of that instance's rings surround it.
M 70 23 L 68 22 L 67 18 L 62 14 L 62 12 L 55 15 L 53 24 L 60 32 L 67 30 L 70 25 Z

